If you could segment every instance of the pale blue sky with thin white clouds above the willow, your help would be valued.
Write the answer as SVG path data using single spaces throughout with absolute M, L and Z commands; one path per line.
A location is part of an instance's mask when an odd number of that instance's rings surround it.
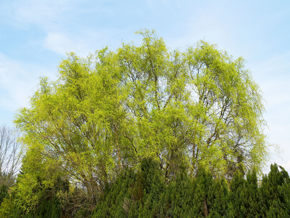
M 267 101 L 268 141 L 284 150 L 271 162 L 290 172 L 289 9 L 289 1 L 0 0 L 0 123 L 12 125 L 38 78 L 55 78 L 66 51 L 115 50 L 141 42 L 136 30 L 156 29 L 172 49 L 205 39 L 247 60 Z

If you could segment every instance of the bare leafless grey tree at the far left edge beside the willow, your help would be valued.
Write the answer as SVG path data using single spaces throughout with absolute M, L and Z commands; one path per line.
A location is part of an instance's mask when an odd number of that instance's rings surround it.
M 0 126 L 0 184 L 10 185 L 21 164 L 21 144 L 17 141 L 19 131 L 5 124 Z

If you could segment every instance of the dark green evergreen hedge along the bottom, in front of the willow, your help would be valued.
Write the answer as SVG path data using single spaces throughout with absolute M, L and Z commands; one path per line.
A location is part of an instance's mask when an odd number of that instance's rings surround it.
M 56 186 L 66 183 L 58 181 Z M 175 178 L 165 181 L 158 164 L 146 159 L 138 172 L 126 169 L 106 187 L 92 212 L 83 208 L 74 215 L 51 194 L 53 190 L 46 190 L 47 198 L 30 212 L 17 205 L 15 191 L 10 191 L 5 186 L 0 188 L 1 218 L 290 217 L 290 179 L 277 164 L 271 165 L 270 173 L 259 182 L 255 172 L 249 172 L 246 179 L 236 172 L 227 181 L 213 178 L 203 168 L 192 178 L 183 166 Z

